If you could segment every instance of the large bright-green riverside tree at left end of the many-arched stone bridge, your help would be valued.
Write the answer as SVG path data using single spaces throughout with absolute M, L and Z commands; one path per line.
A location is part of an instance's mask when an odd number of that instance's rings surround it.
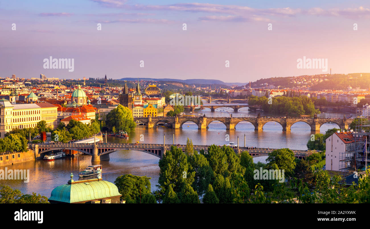
M 132 111 L 121 104 L 107 114 L 105 124 L 109 128 L 115 127 L 117 130 L 128 133 L 134 131 L 136 127 L 134 117 L 132 117 Z

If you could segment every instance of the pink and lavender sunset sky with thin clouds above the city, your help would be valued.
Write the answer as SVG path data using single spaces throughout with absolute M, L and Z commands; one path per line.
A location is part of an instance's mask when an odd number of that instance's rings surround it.
M 0 77 L 369 73 L 369 19 L 365 0 L 0 0 Z M 73 71 L 46 69 L 50 57 L 73 59 Z M 297 67 L 303 58 L 327 60 L 327 71 Z

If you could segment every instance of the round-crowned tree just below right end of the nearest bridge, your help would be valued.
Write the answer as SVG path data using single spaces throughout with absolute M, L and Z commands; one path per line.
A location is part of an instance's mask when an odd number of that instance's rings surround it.
M 266 161 L 268 162 L 268 168 L 270 168 L 272 164 L 276 164 L 279 169 L 284 169 L 286 175 L 292 176 L 294 174 L 296 162 L 294 152 L 290 149 L 276 149 L 269 154 Z

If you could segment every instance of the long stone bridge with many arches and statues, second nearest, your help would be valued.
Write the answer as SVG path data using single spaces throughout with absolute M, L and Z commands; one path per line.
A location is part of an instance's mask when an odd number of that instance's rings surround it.
M 235 129 L 239 122 L 250 122 L 255 127 L 256 131 L 263 130 L 263 125 L 267 122 L 277 122 L 283 127 L 283 131 L 290 131 L 290 127 L 296 122 L 305 122 L 311 127 L 311 131 L 320 131 L 320 127 L 327 123 L 333 122 L 339 126 L 340 129 L 348 129 L 353 121 L 351 118 L 231 118 L 231 117 L 147 117 L 134 118 L 134 121 L 140 121 L 146 125 L 147 128 L 155 128 L 159 121 L 165 121 L 171 124 L 174 129 L 182 128 L 185 122 L 194 122 L 198 125 L 198 129 L 207 129 L 208 125 L 213 121 L 219 121 L 225 124 L 226 129 Z

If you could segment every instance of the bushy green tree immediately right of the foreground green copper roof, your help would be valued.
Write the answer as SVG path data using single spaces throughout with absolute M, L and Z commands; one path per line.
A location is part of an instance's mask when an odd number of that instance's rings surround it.
M 114 184 L 118 188 L 118 192 L 122 194 L 122 199 L 126 201 L 134 201 L 135 203 L 142 202 L 141 198 L 144 195 L 151 194 L 150 192 L 150 177 L 135 176 L 132 174 L 125 174 L 118 176 Z M 155 198 L 155 197 L 154 197 Z M 152 199 L 148 197 L 147 200 Z

